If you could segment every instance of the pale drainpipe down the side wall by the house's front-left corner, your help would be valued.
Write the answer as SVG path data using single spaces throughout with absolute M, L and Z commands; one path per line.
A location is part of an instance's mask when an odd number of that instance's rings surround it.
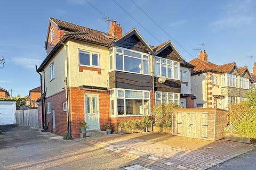
M 70 132 L 70 103 L 69 103 L 69 67 L 68 67 L 68 45 L 67 44 L 64 44 L 62 41 L 60 41 L 60 43 L 63 45 L 63 46 L 66 46 L 66 60 L 67 60 L 67 77 L 65 77 L 65 91 L 66 91 L 66 101 L 67 101 L 67 135 L 71 135 L 71 132 Z

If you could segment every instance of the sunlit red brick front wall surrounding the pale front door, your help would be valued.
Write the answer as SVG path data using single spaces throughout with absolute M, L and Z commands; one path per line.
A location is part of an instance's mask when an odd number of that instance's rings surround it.
M 80 137 L 80 125 L 81 120 L 85 120 L 84 117 L 84 94 L 98 94 L 99 95 L 99 119 L 100 130 L 105 130 L 103 125 L 110 123 L 110 101 L 109 90 L 92 91 L 81 90 L 78 87 L 70 87 L 70 121 L 71 121 L 71 135 L 73 138 Z

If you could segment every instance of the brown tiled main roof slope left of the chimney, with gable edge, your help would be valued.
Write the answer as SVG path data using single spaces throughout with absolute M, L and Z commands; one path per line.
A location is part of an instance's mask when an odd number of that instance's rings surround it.
M 111 43 L 113 43 L 113 41 L 115 39 L 117 39 L 117 37 L 110 35 L 109 33 L 86 28 L 81 25 L 58 20 L 55 18 L 50 18 L 49 23 L 50 22 L 53 23 L 60 30 L 65 31 L 65 36 L 67 36 L 67 37 L 83 39 L 83 40 L 98 43 L 98 44 L 101 44 L 104 46 L 110 45 Z M 49 24 L 49 26 L 50 26 L 50 24 Z M 47 34 L 49 33 L 49 31 L 50 30 L 47 31 Z M 46 41 L 47 41 L 47 39 L 46 39 Z

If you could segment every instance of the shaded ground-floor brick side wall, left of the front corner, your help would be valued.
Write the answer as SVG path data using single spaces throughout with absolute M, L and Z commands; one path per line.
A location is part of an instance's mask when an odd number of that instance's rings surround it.
M 55 111 L 55 133 L 65 135 L 67 133 L 67 112 L 63 111 L 63 103 L 66 102 L 65 90 L 58 92 L 55 95 L 47 97 L 45 102 L 51 101 L 51 110 Z M 49 123 L 49 131 L 53 132 L 52 113 L 46 113 L 46 125 Z

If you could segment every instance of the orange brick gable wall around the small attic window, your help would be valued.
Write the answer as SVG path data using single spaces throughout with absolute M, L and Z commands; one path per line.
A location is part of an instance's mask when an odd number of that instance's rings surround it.
M 51 42 L 51 29 L 53 28 L 53 41 Z M 50 23 L 50 29 L 48 30 L 49 34 L 47 37 L 47 45 L 46 45 L 46 55 L 48 55 L 51 50 L 55 47 L 56 44 L 59 43 L 61 37 L 64 35 L 64 31 L 58 30 L 53 24 Z

